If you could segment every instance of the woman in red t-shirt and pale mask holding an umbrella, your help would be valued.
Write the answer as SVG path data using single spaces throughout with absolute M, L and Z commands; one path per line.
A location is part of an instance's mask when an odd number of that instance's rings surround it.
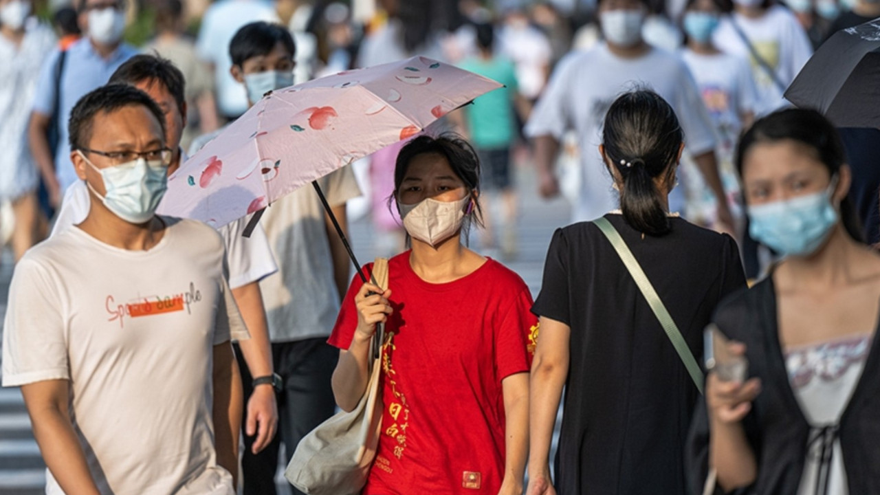
M 479 180 L 462 139 L 404 146 L 392 197 L 411 249 L 389 261 L 387 291 L 356 277 L 342 303 L 329 343 L 341 350 L 333 390 L 343 410 L 366 389 L 376 324 L 392 334 L 363 494 L 522 493 L 538 320 L 523 280 L 461 243 L 480 222 Z

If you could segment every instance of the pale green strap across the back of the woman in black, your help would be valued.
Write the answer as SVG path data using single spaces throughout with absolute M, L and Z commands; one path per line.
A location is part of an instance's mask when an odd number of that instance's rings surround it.
M 642 266 L 635 260 L 633 252 L 627 247 L 627 242 L 620 237 L 620 233 L 617 232 L 617 229 L 614 228 L 614 225 L 611 225 L 611 222 L 609 222 L 607 218 L 597 218 L 593 220 L 593 224 L 598 226 L 599 230 L 601 230 L 602 233 L 605 234 L 605 237 L 608 238 L 608 241 L 611 242 L 614 250 L 617 251 L 617 254 L 620 256 L 620 261 L 622 261 L 627 267 L 629 274 L 633 276 L 635 284 L 638 285 L 639 290 L 642 291 L 642 295 L 648 301 L 648 305 L 656 315 L 657 320 L 660 321 L 660 325 L 663 326 L 666 336 L 669 337 L 672 346 L 675 347 L 675 351 L 678 352 L 678 358 L 681 358 L 681 362 L 685 364 L 687 373 L 691 374 L 693 384 L 697 386 L 697 389 L 700 390 L 700 394 L 702 394 L 703 372 L 700 370 L 700 365 L 698 365 L 697 360 L 693 358 L 693 354 L 685 342 L 685 337 L 681 335 L 681 331 L 678 330 L 678 326 L 675 324 L 675 321 L 672 320 L 671 314 L 666 310 L 663 301 L 660 300 L 660 296 L 657 295 L 657 292 L 654 290 L 654 285 L 651 285 L 645 272 L 642 271 Z

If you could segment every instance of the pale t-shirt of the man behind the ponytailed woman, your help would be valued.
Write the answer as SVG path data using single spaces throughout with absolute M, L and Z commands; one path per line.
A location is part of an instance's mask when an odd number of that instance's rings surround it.
M 557 64 L 525 133 L 562 141 L 566 130 L 576 131 L 583 177 L 572 221 L 592 220 L 619 207 L 598 145 L 613 101 L 623 92 L 642 88 L 655 91 L 675 110 L 687 151 L 697 156 L 715 150 L 712 121 L 690 70 L 677 55 L 650 48 L 638 58 L 620 58 L 605 43 L 566 55 Z M 684 207 L 681 188 L 672 190 L 669 201 L 671 211 Z

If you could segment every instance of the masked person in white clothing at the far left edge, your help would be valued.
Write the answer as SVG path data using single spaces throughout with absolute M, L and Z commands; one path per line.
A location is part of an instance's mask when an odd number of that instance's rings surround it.
M 27 146 L 33 88 L 52 48 L 52 29 L 31 17 L 31 0 L 0 0 L 0 201 L 15 215 L 12 251 L 18 260 L 38 240 L 40 175 Z

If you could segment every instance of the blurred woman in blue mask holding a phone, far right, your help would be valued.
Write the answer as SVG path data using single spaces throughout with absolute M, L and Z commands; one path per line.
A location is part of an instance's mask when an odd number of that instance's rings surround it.
M 850 172 L 811 110 L 759 120 L 738 146 L 752 236 L 783 255 L 715 315 L 748 380 L 709 373 L 689 472 L 724 492 L 880 493 L 880 256 L 860 241 Z

